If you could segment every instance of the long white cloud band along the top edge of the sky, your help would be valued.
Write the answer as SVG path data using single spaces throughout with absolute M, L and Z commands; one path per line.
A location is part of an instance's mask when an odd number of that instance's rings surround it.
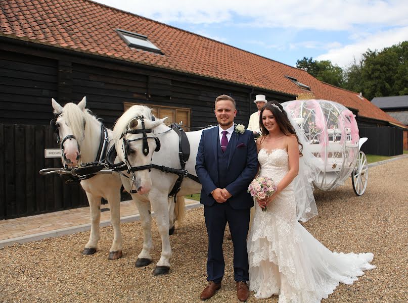
M 164 23 L 213 24 L 246 20 L 246 26 L 349 30 L 355 25 L 408 25 L 406 0 L 97 0 Z

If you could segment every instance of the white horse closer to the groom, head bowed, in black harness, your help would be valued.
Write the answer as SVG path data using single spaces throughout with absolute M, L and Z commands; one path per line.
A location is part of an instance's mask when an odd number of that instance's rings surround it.
M 122 179 L 123 186 L 127 191 L 131 191 L 131 189 L 138 191 L 138 193 L 132 194 L 132 198 L 136 201 L 141 216 L 144 242 L 136 266 L 147 266 L 152 262 L 150 255 L 152 234 L 149 212 L 151 205 L 156 214 L 157 226 L 162 241 L 161 258 L 154 270 L 154 275 L 159 276 L 167 274 L 170 269 L 171 247 L 168 236 L 168 194 L 178 175 L 166 173 L 155 168 L 149 170 L 149 166 L 155 164 L 180 169 L 178 156 L 179 137 L 175 131 L 170 130 L 169 127 L 163 124 L 166 118 L 155 121 L 152 121 L 152 119 L 152 113 L 148 107 L 132 106 L 116 121 L 113 132 L 118 158 L 123 162 L 127 162 L 129 171 L 131 167 L 142 168 L 131 173 L 131 179 Z M 143 132 L 143 129 L 147 131 Z M 191 154 L 185 169 L 193 175 L 196 175 L 196 156 L 201 132 L 187 132 Z M 145 140 L 143 140 L 144 137 Z M 160 142 L 155 138 L 158 138 Z M 161 145 L 160 149 L 158 144 Z M 177 196 L 199 193 L 200 190 L 201 184 L 186 177 Z M 180 211 L 183 210 L 180 209 Z

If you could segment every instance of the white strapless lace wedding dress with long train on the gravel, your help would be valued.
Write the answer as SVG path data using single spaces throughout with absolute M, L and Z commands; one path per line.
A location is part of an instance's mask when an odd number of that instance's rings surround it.
M 289 171 L 285 149 L 270 154 L 261 149 L 259 176 L 278 184 Z M 339 282 L 352 284 L 363 270 L 373 269 L 374 255 L 332 252 L 296 221 L 292 184 L 262 212 L 255 203 L 255 215 L 247 240 L 249 289 L 255 297 L 279 294 L 279 303 L 318 303 L 327 298 Z

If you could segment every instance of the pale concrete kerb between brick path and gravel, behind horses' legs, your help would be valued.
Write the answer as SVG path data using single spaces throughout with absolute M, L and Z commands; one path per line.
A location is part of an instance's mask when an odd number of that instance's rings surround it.
M 202 205 L 200 204 L 199 201 L 194 201 L 193 203 L 186 205 L 186 210 L 199 208 L 201 206 Z M 154 216 L 154 212 L 152 212 L 152 216 Z M 139 214 L 120 218 L 121 223 L 128 223 L 128 222 L 134 222 L 134 221 L 139 221 L 139 220 L 140 220 Z M 99 224 L 100 227 L 106 227 L 109 225 L 111 225 L 110 220 L 101 221 Z M 10 246 L 15 243 L 26 243 L 26 242 L 38 241 L 38 240 L 45 239 L 45 238 L 59 237 L 59 236 L 69 235 L 69 234 L 73 234 L 73 233 L 77 233 L 81 231 L 87 231 L 87 230 L 90 230 L 90 223 L 45 231 L 45 232 L 21 236 L 21 237 L 0 240 L 0 248 L 5 247 L 5 246 Z

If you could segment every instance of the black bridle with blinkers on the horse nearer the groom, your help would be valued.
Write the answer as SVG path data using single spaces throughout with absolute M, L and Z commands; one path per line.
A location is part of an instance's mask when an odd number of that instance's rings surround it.
M 123 139 L 123 143 L 122 143 L 122 150 L 123 150 L 123 154 L 125 156 L 124 162 L 127 166 L 127 172 L 131 173 L 133 175 L 133 173 L 135 171 L 140 171 L 140 170 L 145 170 L 148 169 L 149 172 L 152 168 L 152 164 L 149 165 L 142 165 L 142 166 L 137 166 L 137 167 L 133 167 L 130 165 L 129 160 L 128 160 L 128 154 L 130 153 L 130 142 L 133 141 L 138 141 L 138 140 L 143 140 L 143 146 L 142 146 L 142 151 L 143 151 L 143 155 L 145 155 L 145 157 L 147 157 L 147 155 L 149 155 L 149 143 L 148 143 L 148 139 L 154 139 L 156 142 L 156 148 L 154 151 L 159 151 L 160 150 L 160 140 L 158 137 L 154 136 L 148 136 L 148 133 L 153 133 L 153 130 L 151 128 L 146 128 L 145 127 L 145 121 L 144 121 L 144 116 L 136 116 L 134 117 L 134 119 L 140 120 L 142 123 L 142 129 L 132 129 L 129 130 L 126 127 L 126 130 L 122 133 L 122 135 L 120 136 L 121 139 Z M 152 117 L 152 121 L 155 121 L 155 118 Z M 141 138 L 136 138 L 136 139 L 131 139 L 128 140 L 126 139 L 126 135 L 127 134 L 143 134 L 143 136 Z M 132 176 L 132 179 L 134 180 L 134 176 Z

